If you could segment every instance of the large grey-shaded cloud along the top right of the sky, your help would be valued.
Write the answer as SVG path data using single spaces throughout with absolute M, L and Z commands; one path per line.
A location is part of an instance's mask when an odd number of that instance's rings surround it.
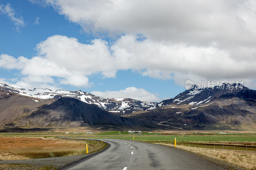
M 199 46 L 254 46 L 255 1 L 46 0 L 86 32 L 141 33 L 153 40 Z

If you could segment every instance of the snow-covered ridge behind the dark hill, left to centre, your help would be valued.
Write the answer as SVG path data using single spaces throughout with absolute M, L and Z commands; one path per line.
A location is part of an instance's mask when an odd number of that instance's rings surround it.
M 95 96 L 88 92 L 68 91 L 68 90 L 51 90 L 47 88 L 35 88 L 33 90 L 23 89 L 15 85 L 0 83 L 1 91 L 14 92 L 23 96 L 29 96 L 39 99 L 59 99 L 61 97 L 76 98 L 88 104 L 95 104 L 109 112 L 118 115 L 132 113 L 138 110 L 147 110 L 156 105 L 156 102 L 146 102 L 131 98 L 104 98 Z

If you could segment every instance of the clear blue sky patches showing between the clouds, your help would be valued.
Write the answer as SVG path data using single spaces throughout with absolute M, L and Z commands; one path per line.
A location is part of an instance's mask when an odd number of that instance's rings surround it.
M 29 1 L 0 1 L 2 5 L 9 3 L 15 10 L 17 17 L 23 17 L 25 26 L 20 26 L 20 31 L 8 16 L 0 14 L 0 53 L 12 55 L 17 58 L 25 56 L 32 58 L 36 56 L 36 44 L 46 40 L 53 35 L 64 35 L 75 37 L 80 43 L 88 43 L 95 38 L 94 35 L 84 33 L 83 28 L 74 22 L 70 22 L 64 15 L 60 15 L 51 6 L 43 7 L 33 4 Z M 35 24 L 36 18 L 39 17 L 39 24 Z M 110 41 L 109 38 L 104 40 Z M 0 77 L 6 80 L 20 78 L 19 71 L 0 68 Z M 82 90 L 85 92 L 92 91 L 119 91 L 127 87 L 143 88 L 146 91 L 155 94 L 158 98 L 169 99 L 176 96 L 184 90 L 181 85 L 175 85 L 173 80 L 159 80 L 141 76 L 131 70 L 119 70 L 115 78 L 102 78 L 96 74 L 89 77 L 93 82 L 91 87 L 76 87 L 72 85 L 61 85 L 56 81 L 56 86 L 67 90 Z M 11 83 L 15 81 L 9 80 Z M 115 97 L 115 96 L 113 96 Z M 125 96 L 124 96 L 125 97 Z

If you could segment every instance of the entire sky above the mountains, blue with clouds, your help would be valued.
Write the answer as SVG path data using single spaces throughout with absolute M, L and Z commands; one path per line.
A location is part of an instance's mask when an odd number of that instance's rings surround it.
M 0 82 L 170 99 L 186 80 L 256 88 L 256 3 L 0 0 Z

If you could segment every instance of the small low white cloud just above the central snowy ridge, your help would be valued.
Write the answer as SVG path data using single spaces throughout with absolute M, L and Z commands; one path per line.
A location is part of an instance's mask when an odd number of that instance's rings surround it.
M 146 91 L 143 88 L 137 89 L 136 87 L 127 87 L 126 89 L 119 91 L 92 91 L 91 93 L 96 96 L 107 98 L 132 98 L 140 101 L 160 101 L 156 95 Z

